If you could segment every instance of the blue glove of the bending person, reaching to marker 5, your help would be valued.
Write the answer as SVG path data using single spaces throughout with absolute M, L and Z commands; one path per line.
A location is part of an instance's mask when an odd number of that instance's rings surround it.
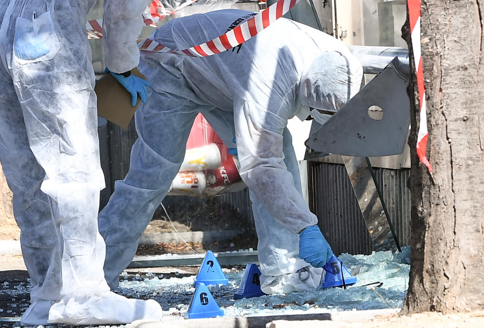
M 322 268 L 333 255 L 331 246 L 317 225 L 312 225 L 299 233 L 299 258 L 315 268 Z

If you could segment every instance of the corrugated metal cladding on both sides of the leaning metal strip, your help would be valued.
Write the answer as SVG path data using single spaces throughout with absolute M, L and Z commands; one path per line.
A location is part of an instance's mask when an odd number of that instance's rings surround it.
M 410 241 L 410 170 L 375 169 L 400 243 Z M 310 208 L 336 254 L 370 254 L 372 240 L 343 165 L 309 162 Z

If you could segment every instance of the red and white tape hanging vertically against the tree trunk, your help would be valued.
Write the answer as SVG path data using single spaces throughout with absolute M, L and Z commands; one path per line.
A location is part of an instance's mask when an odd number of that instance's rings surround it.
M 417 155 L 420 159 L 420 162 L 425 164 L 425 166 L 429 169 L 429 172 L 432 172 L 432 166 L 430 165 L 430 162 L 426 156 L 429 131 L 427 130 L 427 104 L 425 101 L 425 83 L 423 80 L 420 43 L 420 0 L 408 0 L 407 3 L 413 57 L 415 59 L 415 69 L 417 72 L 418 96 L 420 98 L 420 126 L 417 136 Z

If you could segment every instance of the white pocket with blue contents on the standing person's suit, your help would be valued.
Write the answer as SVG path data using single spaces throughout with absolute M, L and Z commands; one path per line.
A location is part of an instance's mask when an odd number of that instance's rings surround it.
M 60 48 L 50 12 L 34 13 L 32 21 L 17 18 L 13 50 L 19 64 L 52 59 Z

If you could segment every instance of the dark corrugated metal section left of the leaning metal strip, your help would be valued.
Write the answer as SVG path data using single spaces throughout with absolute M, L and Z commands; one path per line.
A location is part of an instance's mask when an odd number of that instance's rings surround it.
M 373 243 L 342 165 L 309 162 L 310 208 L 333 252 L 371 254 Z

